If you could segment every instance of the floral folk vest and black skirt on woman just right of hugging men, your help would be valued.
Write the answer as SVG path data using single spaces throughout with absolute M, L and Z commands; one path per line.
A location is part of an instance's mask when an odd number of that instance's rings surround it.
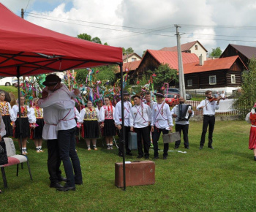
M 98 138 L 99 137 L 99 110 L 96 107 L 83 108 L 80 111 L 79 123 L 83 123 L 82 135 L 84 138 Z

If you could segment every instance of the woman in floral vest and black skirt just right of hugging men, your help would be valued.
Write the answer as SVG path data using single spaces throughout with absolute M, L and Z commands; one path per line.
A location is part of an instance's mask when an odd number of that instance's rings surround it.
M 87 102 L 87 107 L 80 111 L 79 123 L 83 124 L 82 137 L 86 139 L 88 151 L 91 151 L 91 143 L 94 150 L 96 147 L 97 138 L 99 137 L 99 110 L 93 107 L 91 100 Z M 79 125 L 78 125 L 79 126 Z

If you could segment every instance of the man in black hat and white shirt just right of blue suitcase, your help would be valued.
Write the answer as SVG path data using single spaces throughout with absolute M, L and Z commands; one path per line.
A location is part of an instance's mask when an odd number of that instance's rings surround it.
M 145 159 L 149 159 L 150 137 L 148 126 L 151 120 L 151 109 L 141 101 L 140 94 L 132 96 L 132 99 L 135 105 L 129 112 L 129 126 L 131 127 L 131 131 L 137 133 L 138 159 L 143 156 L 145 156 Z M 143 137 L 144 153 L 141 137 Z

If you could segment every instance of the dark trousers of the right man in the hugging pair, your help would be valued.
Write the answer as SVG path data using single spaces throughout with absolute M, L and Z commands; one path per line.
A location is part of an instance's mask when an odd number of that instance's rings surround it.
M 58 131 L 59 155 L 67 176 L 67 187 L 75 186 L 75 182 L 83 181 L 80 161 L 75 151 L 75 131 L 76 126 L 72 129 Z

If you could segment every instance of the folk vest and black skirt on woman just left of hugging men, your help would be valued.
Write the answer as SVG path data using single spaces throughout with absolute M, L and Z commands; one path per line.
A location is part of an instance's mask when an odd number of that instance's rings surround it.
M 31 115 L 34 115 L 34 117 L 36 118 L 36 128 L 34 129 L 32 139 L 42 139 L 42 129 L 45 126 L 45 121 L 43 118 L 43 109 L 39 106 L 31 107 Z

